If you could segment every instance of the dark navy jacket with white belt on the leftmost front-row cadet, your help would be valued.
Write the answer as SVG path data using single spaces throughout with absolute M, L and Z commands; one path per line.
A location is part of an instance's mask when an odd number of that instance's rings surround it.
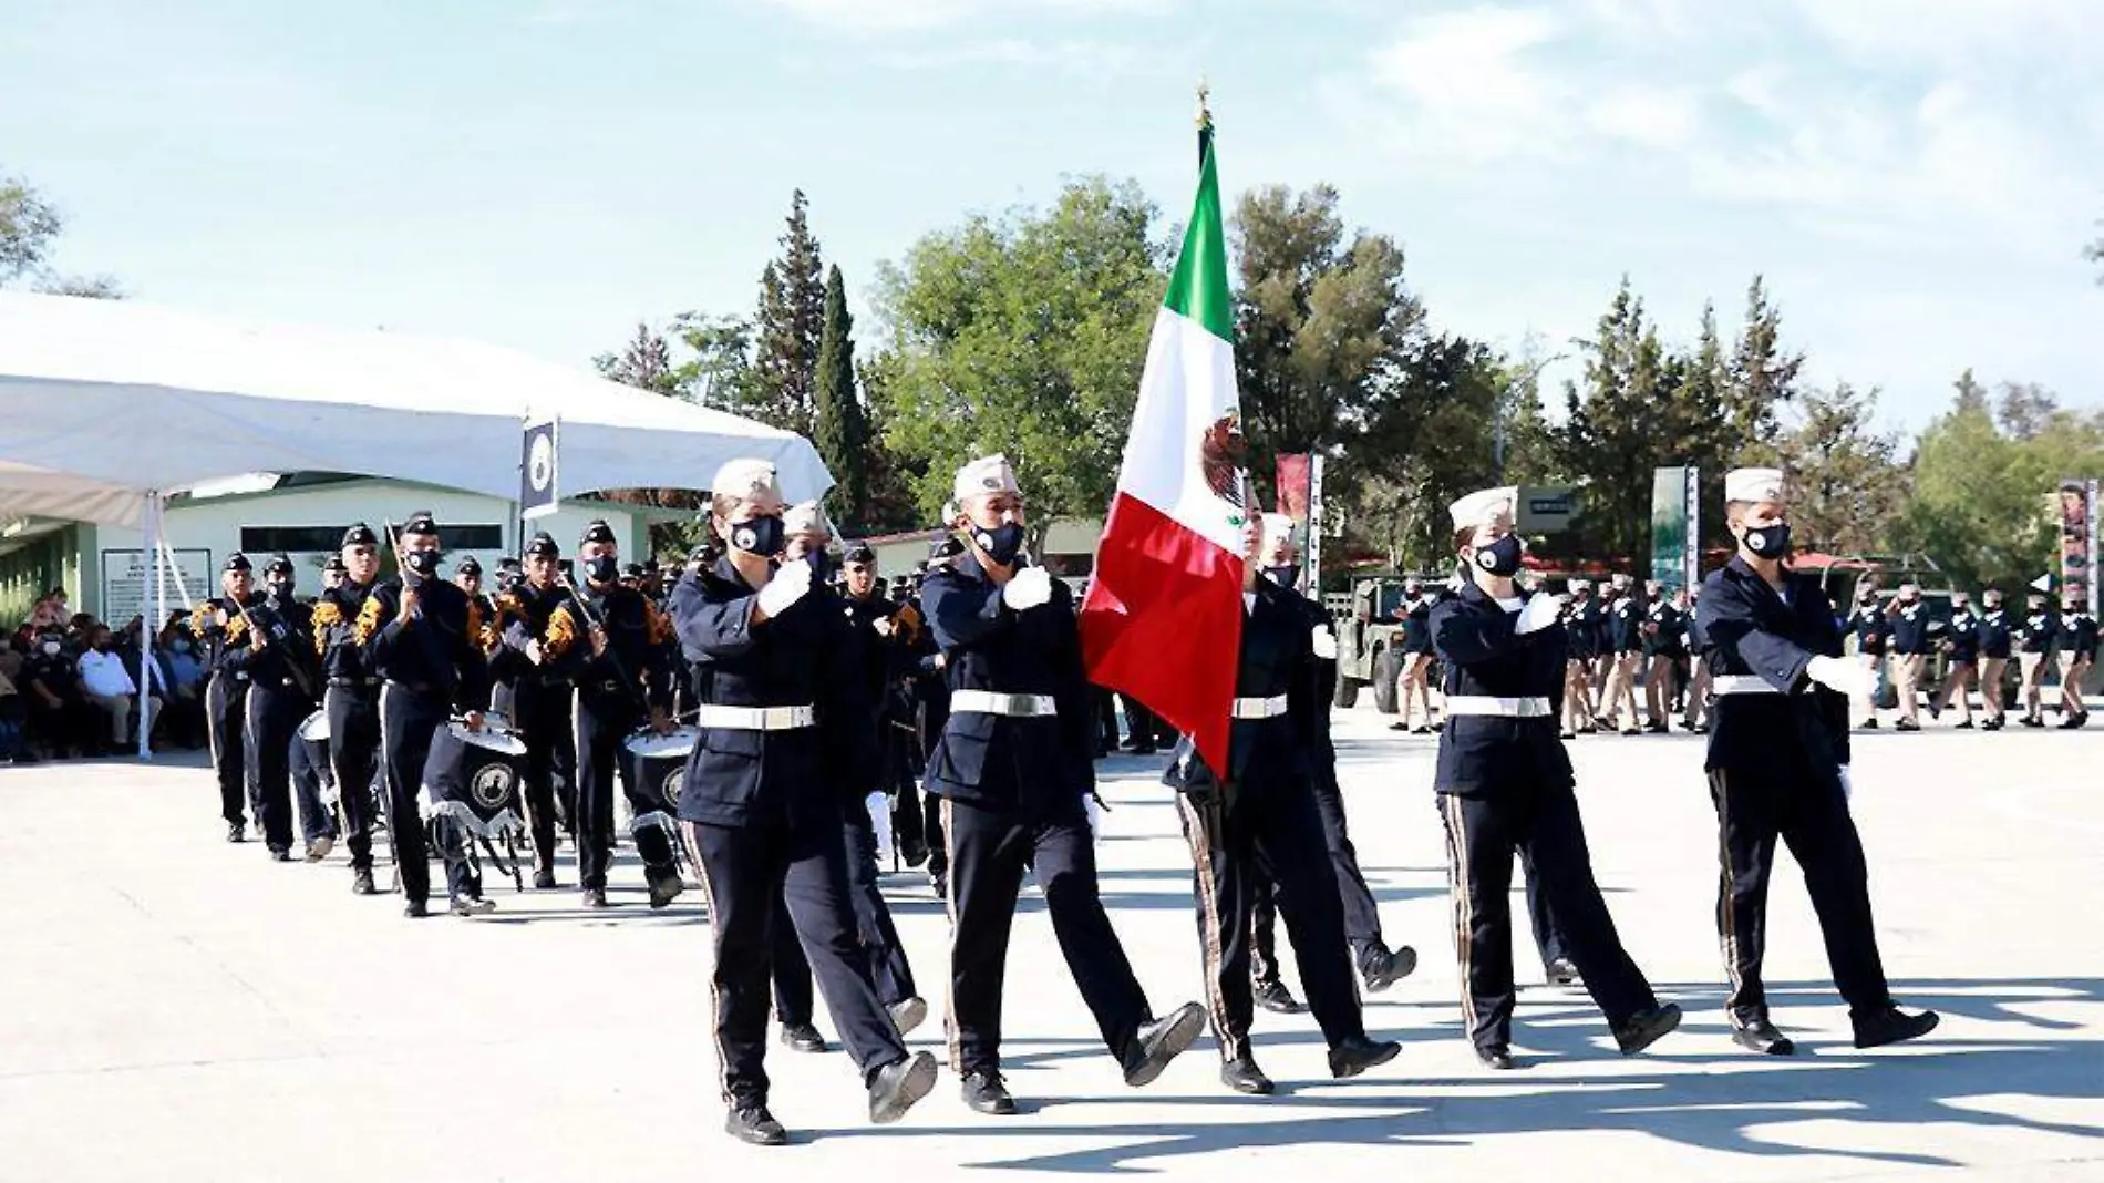
M 694 699 L 717 707 L 816 707 L 816 726 L 703 726 L 686 760 L 680 817 L 728 827 L 837 823 L 850 773 L 871 758 L 848 621 L 823 587 L 753 625 L 757 604 L 760 594 L 728 558 L 680 577 L 671 617 L 694 661 Z

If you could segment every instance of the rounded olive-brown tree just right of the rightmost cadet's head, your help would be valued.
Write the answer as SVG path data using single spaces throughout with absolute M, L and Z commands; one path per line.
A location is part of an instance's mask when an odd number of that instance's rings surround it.
M 1797 425 L 1778 453 L 1791 474 L 1799 543 L 1864 554 L 1887 545 L 1906 503 L 1900 438 L 1879 432 L 1877 392 L 1837 383 L 1797 398 Z

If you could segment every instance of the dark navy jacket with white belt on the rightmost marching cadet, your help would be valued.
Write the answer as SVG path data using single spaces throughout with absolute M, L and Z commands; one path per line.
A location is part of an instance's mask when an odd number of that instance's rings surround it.
M 1786 577 L 1784 600 L 1732 556 L 1702 581 L 1696 615 L 1715 678 L 1757 676 L 1778 695 L 1717 695 L 1706 768 L 1734 773 L 1847 764 L 1847 695 L 1812 682 L 1814 657 L 1841 657 L 1833 602 L 1812 577 Z

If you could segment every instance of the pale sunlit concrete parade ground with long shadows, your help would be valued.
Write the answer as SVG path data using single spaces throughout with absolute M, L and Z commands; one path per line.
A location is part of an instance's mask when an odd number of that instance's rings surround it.
M 1700 741 L 1574 743 L 1607 903 L 1690 1021 L 1622 1059 L 1582 991 L 1534 987 L 1515 1040 L 1530 1067 L 1492 1076 L 1460 1036 L 1433 747 L 1384 722 L 1338 714 L 1353 838 L 1391 943 L 1422 954 L 1368 1006 L 1376 1036 L 1405 1042 L 1393 1065 L 1330 1082 L 1311 1019 L 1258 1015 L 1279 1097 L 1225 1092 L 1210 1040 L 1130 1090 L 1029 897 L 1006 1012 L 1025 1114 L 970 1114 L 945 1071 L 905 1122 L 873 1128 L 842 1052 L 776 1046 L 787 1149 L 720 1132 L 699 893 L 650 914 L 633 859 L 612 914 L 576 907 L 564 859 L 570 890 L 492 880 L 494 916 L 410 922 L 400 897 L 349 895 L 341 848 L 307 867 L 221 842 L 198 766 L 4 768 L 0 1179 L 2104 1179 L 2104 733 L 1858 739 L 1885 966 L 1902 1002 L 1944 1025 L 1915 1046 L 1849 1048 L 1782 859 L 1767 966 L 1776 1021 L 1803 1048 L 1791 1061 L 1725 1038 Z M 1199 973 L 1189 855 L 1155 770 L 1102 764 L 1100 861 L 1168 1008 L 1199 998 Z M 915 874 L 888 886 L 940 1010 L 943 909 Z M 1515 960 L 1540 981 L 1525 928 Z M 911 1042 L 940 1055 L 938 1015 Z

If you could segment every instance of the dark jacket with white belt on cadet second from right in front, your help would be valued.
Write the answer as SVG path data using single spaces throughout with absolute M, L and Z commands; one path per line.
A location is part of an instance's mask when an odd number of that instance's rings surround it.
M 1448 716 L 1433 787 L 1464 798 L 1567 789 L 1572 760 L 1557 730 L 1570 650 L 1563 625 L 1519 636 L 1519 613 L 1500 608 L 1473 579 L 1433 608 L 1431 623 L 1450 697 L 1549 699 L 1540 718 Z

